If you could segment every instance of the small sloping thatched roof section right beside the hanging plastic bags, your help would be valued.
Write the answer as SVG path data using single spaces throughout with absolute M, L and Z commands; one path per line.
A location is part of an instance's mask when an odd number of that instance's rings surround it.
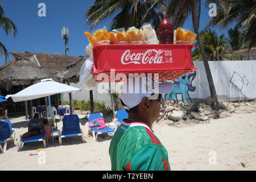
M 67 81 L 70 81 L 73 83 L 79 82 L 80 69 L 82 67 L 82 64 L 84 64 L 84 62 L 87 58 L 88 57 L 85 56 L 80 61 L 78 61 L 72 68 L 69 68 L 68 72 L 65 73 L 65 75 L 63 77 L 63 82 L 67 82 Z

